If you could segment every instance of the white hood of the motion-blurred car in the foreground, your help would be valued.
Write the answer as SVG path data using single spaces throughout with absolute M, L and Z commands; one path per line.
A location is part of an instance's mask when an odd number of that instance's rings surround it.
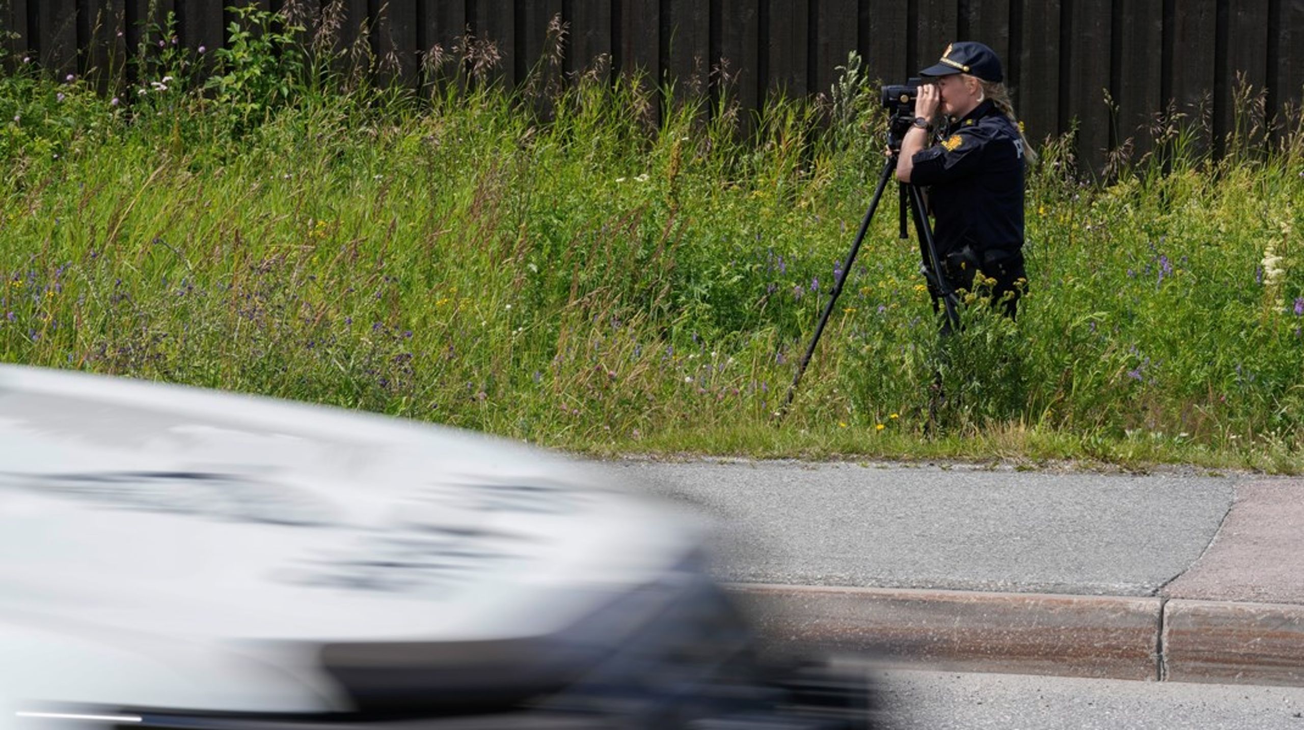
M 668 510 L 455 429 L 0 367 L 10 626 L 228 648 L 548 635 L 696 547 Z

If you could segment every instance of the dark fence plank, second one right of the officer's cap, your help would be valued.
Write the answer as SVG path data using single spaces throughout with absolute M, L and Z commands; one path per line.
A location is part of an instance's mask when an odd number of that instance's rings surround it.
M 1099 169 L 1110 147 L 1111 3 L 1073 0 L 1068 35 L 1069 107 L 1077 118 L 1077 159 L 1088 169 Z M 1065 49 L 1061 49 L 1064 52 Z

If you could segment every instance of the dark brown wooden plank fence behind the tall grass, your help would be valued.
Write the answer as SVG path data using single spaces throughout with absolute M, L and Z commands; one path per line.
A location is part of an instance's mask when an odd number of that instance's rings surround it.
M 515 82 L 559 16 L 567 69 L 606 56 L 615 73 L 719 83 L 705 72 L 724 60 L 747 107 L 778 90 L 827 92 L 853 49 L 871 75 L 898 83 L 951 40 L 977 39 L 1004 60 L 1029 135 L 1077 120 L 1078 151 L 1097 164 L 1170 101 L 1205 109 L 1217 144 L 1234 128 L 1239 79 L 1270 113 L 1299 104 L 1304 82 L 1304 0 L 0 0 L 0 29 L 13 52 L 85 70 L 134 48 L 167 13 L 183 46 L 216 48 L 232 20 L 223 5 L 250 1 L 316 14 L 335 5 L 346 42 L 366 25 L 407 78 L 426 49 L 469 30 L 496 42 L 498 73 Z

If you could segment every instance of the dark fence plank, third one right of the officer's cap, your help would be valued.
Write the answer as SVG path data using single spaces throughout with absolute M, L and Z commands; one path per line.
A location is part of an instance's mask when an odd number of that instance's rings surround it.
M 1151 147 L 1149 126 L 1164 103 L 1159 94 L 1163 66 L 1158 52 L 1163 46 L 1163 7 L 1154 0 L 1121 0 L 1115 26 L 1119 49 L 1114 57 L 1119 68 L 1114 70 L 1111 94 L 1118 104 L 1116 142 L 1132 139 L 1133 159 L 1140 159 Z

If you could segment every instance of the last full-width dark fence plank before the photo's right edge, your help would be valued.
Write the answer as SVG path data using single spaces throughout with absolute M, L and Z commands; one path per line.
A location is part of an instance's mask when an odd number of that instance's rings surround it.
M 1214 130 L 1221 139 L 1236 131 L 1237 115 L 1249 109 L 1237 109 L 1235 94 L 1240 83 L 1248 83 L 1253 94 L 1262 92 L 1267 86 L 1267 0 L 1237 0 L 1228 8 L 1227 17 L 1227 57 L 1218 75 L 1224 79 L 1214 113 Z M 1241 118 L 1243 124 L 1251 120 Z M 1241 133 L 1248 131 L 1241 128 Z

